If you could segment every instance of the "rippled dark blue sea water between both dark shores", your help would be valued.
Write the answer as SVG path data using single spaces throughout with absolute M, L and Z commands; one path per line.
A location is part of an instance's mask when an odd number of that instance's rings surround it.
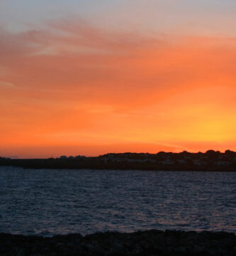
M 236 233 L 236 173 L 0 167 L 0 232 Z

